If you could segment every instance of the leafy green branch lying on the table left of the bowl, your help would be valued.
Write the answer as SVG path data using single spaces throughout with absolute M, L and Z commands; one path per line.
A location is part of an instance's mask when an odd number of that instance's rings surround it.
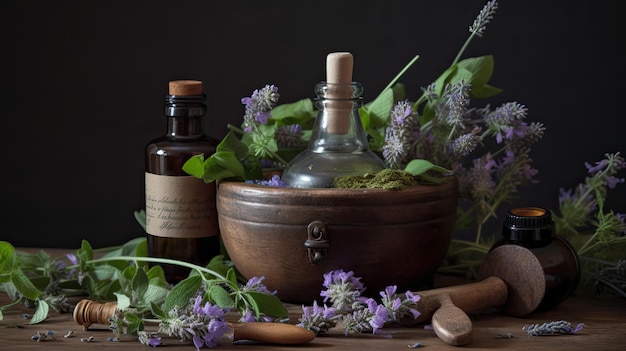
M 234 268 L 225 263 L 222 256 L 216 256 L 205 267 L 147 257 L 145 238 L 112 248 L 102 257 L 95 258 L 94 251 L 84 240 L 76 250 L 74 262 L 68 262 L 74 264 L 61 264 L 72 259 L 53 259 L 43 250 L 38 256 L 46 263 L 39 264 L 33 263 L 32 255 L 18 253 L 10 243 L 0 241 L 0 291 L 13 300 L 0 307 L 0 319 L 1 311 L 29 302 L 36 306 L 30 323 L 39 323 L 48 317 L 48 299 L 61 297 L 65 300 L 63 296 L 68 291 L 101 301 L 117 301 L 120 310 L 130 311 L 126 318 L 136 322 L 134 329 L 142 326 L 139 320 L 150 320 L 154 316 L 167 318 L 174 306 L 186 306 L 199 293 L 220 308 L 237 309 L 242 315 L 250 312 L 257 319 L 264 315 L 284 317 L 287 314 L 275 295 L 240 288 Z M 41 269 L 46 264 L 57 269 Z M 179 265 L 191 272 L 170 288 L 158 264 Z

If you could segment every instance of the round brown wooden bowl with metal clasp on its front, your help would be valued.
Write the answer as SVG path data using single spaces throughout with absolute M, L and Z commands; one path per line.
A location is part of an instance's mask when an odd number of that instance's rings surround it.
M 429 283 L 450 245 L 458 184 L 382 189 L 296 189 L 221 182 L 221 237 L 244 278 L 287 302 L 321 301 L 323 275 L 354 271 L 378 295 Z

